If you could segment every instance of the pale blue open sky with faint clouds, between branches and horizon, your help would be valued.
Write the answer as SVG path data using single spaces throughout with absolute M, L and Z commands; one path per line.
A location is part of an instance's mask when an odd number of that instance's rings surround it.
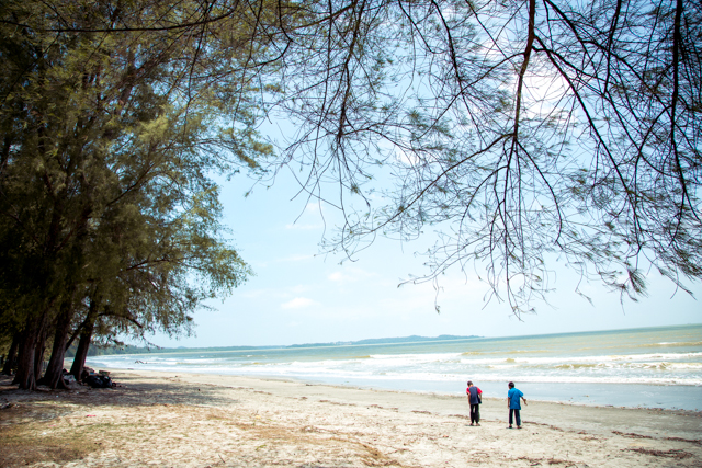
M 576 292 L 579 277 L 554 265 L 556 290 L 548 304 L 534 303 L 535 315 L 511 313 L 506 303 L 486 301 L 489 287 L 476 274 L 453 271 L 431 283 L 398 285 L 426 273 L 415 255 L 431 239 L 400 243 L 378 239 L 354 261 L 320 254 L 324 222 L 317 205 L 294 198 L 296 185 L 283 174 L 271 189 L 235 176 L 222 184 L 224 221 L 233 244 L 251 266 L 252 276 L 231 295 L 208 303 L 195 315 L 195 335 L 156 335 L 165 347 L 288 345 L 372 338 L 441 334 L 514 336 L 629 329 L 702 322 L 702 304 L 677 290 L 658 273 L 648 276 L 649 297 L 638 303 L 597 283 L 580 284 L 590 305 Z M 333 218 L 326 213 L 326 218 Z M 428 237 L 431 237 L 430 235 Z M 426 248 L 426 247 L 424 247 Z M 344 261 L 346 260 L 346 261 Z M 698 283 L 693 290 L 702 297 Z M 441 311 L 437 312 L 438 301 Z

